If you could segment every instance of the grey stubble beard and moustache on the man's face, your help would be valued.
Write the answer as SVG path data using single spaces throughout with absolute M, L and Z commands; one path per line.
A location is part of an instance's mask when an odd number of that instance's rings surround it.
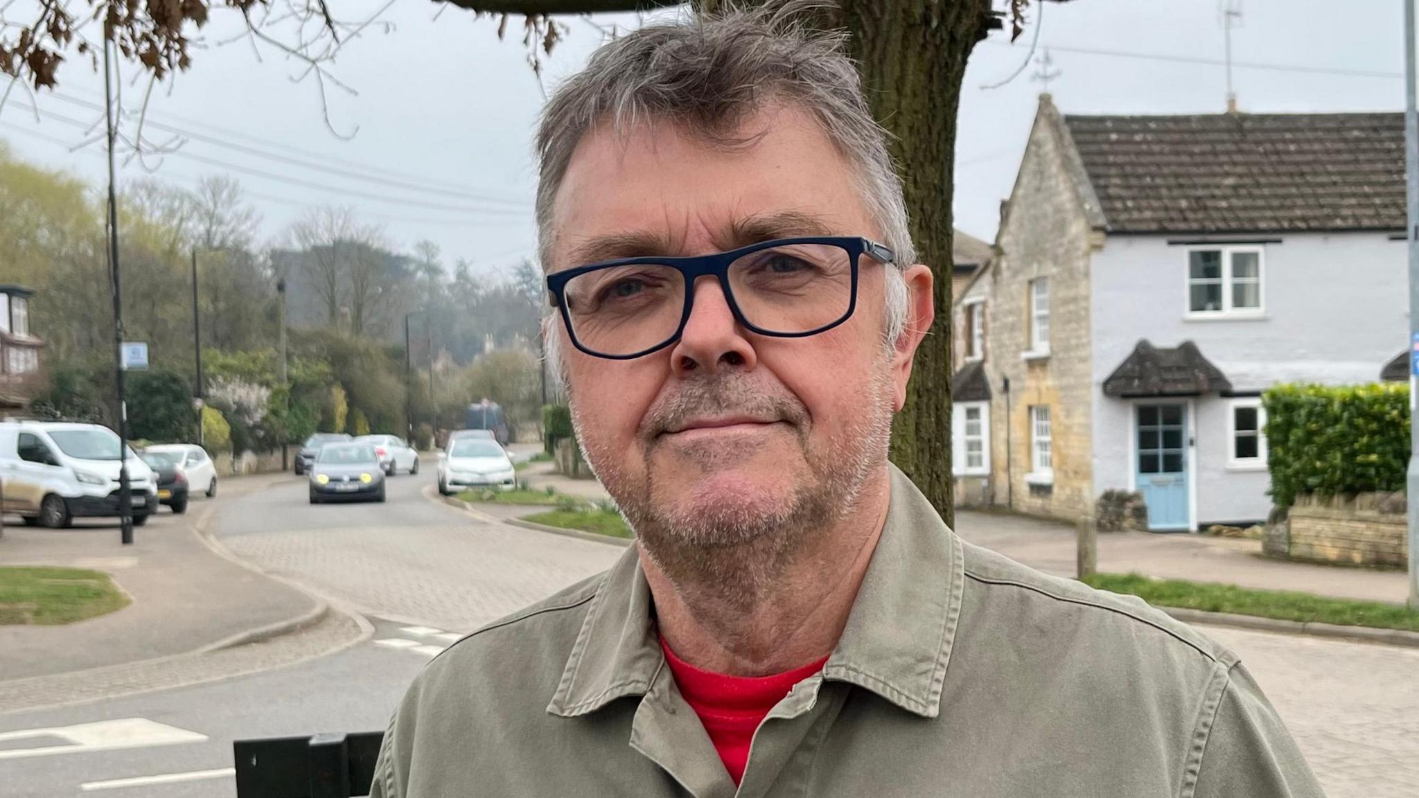
M 636 531 L 641 548 L 677 591 L 724 609 L 749 612 L 773 595 L 790 564 L 812 557 L 815 535 L 827 534 L 849 515 L 867 481 L 885 464 L 893 417 L 887 356 L 873 364 L 873 369 L 871 395 L 860 413 L 850 415 L 854 423 L 819 446 L 810 443 L 813 420 L 806 408 L 788 390 L 768 393 L 742 372 L 728 372 L 707 382 L 687 382 L 674 396 L 651 406 L 639 430 L 646 463 L 643 479 L 622 469 L 609 449 L 583 447 L 583 456 Z M 580 430 L 575 392 L 570 406 Z M 658 432 L 700 413 L 785 419 L 799 442 L 807 474 L 793 486 L 788 500 L 766 510 L 731 501 L 680 507 L 675 497 L 657 497 L 650 461 Z M 711 450 L 701 457 L 701 467 L 718 467 L 715 460 L 732 456 Z

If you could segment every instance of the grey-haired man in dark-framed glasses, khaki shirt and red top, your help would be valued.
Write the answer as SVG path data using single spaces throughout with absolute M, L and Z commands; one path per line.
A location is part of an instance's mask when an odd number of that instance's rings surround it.
M 545 334 L 636 544 L 434 659 L 375 795 L 1320 795 L 1233 653 L 887 461 L 932 274 L 796 10 L 647 26 L 548 104 Z

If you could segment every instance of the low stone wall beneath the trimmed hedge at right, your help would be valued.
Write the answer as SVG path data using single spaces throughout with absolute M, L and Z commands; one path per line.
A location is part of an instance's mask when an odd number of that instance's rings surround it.
M 1301 496 L 1287 523 L 1291 559 L 1398 568 L 1409 562 L 1403 494 Z

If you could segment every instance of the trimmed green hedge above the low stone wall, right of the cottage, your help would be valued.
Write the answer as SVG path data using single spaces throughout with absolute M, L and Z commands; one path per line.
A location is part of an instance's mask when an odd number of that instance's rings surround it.
M 1405 488 L 1408 385 L 1279 385 L 1261 400 L 1277 507 L 1290 507 L 1304 493 L 1348 496 Z

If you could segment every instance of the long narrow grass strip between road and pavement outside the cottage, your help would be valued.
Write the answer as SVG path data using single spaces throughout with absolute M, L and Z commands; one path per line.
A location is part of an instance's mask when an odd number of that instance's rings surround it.
M 1288 591 L 1254 591 L 1216 582 L 1152 579 L 1138 574 L 1095 574 L 1084 582 L 1101 591 L 1131 594 L 1156 606 L 1419 632 L 1419 612 L 1393 603 Z

